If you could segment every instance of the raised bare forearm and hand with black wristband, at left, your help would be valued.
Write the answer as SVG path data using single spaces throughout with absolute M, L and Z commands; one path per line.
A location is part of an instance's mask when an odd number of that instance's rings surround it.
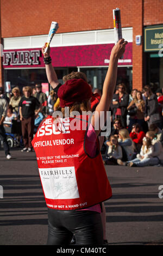
M 45 47 L 46 45 L 42 47 L 42 54 L 44 58 L 48 58 L 50 56 L 51 49 L 50 47 L 48 47 L 47 52 L 43 53 L 45 50 Z M 46 75 L 47 75 L 48 82 L 49 84 L 51 84 L 52 88 L 54 89 L 59 84 L 57 74 L 55 73 L 52 63 L 45 64 L 45 68 L 46 68 Z

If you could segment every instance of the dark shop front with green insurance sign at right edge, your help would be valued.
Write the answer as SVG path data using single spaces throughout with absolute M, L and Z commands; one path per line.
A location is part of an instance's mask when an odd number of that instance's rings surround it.
M 163 25 L 144 28 L 146 84 L 153 92 L 163 88 Z

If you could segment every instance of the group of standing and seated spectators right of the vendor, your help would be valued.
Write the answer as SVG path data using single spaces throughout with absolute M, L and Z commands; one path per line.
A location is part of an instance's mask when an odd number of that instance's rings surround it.
M 162 90 L 126 92 L 118 84 L 110 106 L 112 129 L 104 145 L 105 164 L 153 166 L 163 163 L 163 96 Z

